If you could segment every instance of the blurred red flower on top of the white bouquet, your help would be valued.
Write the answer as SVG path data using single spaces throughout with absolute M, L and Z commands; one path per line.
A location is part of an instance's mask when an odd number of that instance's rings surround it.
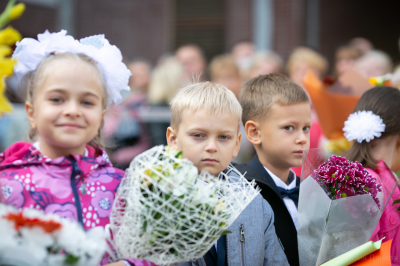
M 9 213 L 4 215 L 3 218 L 13 221 L 15 223 L 15 230 L 19 230 L 20 227 L 34 227 L 39 226 L 47 233 L 52 233 L 55 230 L 61 228 L 61 224 L 53 220 L 43 221 L 38 218 L 27 218 L 22 213 Z

